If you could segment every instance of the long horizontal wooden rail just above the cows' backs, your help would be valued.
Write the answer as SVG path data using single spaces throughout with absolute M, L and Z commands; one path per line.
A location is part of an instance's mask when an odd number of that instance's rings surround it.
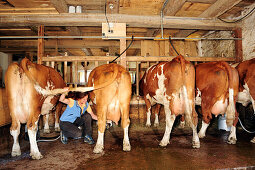
M 161 56 L 126 56 L 126 61 L 171 61 L 175 56 L 161 57 Z M 59 61 L 59 62 L 84 62 L 84 61 L 112 61 L 116 56 L 54 56 L 54 57 L 43 57 L 42 61 Z M 222 58 L 222 57 L 184 57 L 188 61 L 235 61 L 234 57 L 232 58 Z M 120 61 L 120 59 L 117 59 Z

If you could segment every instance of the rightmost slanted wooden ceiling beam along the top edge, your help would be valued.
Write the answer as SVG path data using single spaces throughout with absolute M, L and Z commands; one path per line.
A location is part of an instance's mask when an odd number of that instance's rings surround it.
M 207 10 L 205 10 L 199 17 L 218 17 L 231 9 L 242 0 L 217 0 Z

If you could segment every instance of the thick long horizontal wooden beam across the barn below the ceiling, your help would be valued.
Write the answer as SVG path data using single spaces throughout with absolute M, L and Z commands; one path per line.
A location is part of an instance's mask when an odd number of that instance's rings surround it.
M 109 22 L 123 21 L 129 27 L 159 28 L 160 16 L 140 16 L 127 14 L 109 14 Z M 0 27 L 7 26 L 101 26 L 105 22 L 104 14 L 52 14 L 52 15 L 0 15 Z M 176 29 L 206 29 L 206 30 L 232 30 L 239 25 L 237 23 L 224 23 L 214 19 L 189 18 L 189 17 L 164 17 L 164 28 Z

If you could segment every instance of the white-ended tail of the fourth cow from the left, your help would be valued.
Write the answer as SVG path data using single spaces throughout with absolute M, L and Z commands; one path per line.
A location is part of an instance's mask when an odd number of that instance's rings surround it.
M 232 126 L 235 120 L 235 103 L 234 103 L 234 80 L 233 80 L 233 72 L 230 65 L 226 62 L 221 62 L 222 66 L 227 71 L 228 75 L 228 95 L 229 95 L 229 104 L 226 110 L 226 123 L 228 126 Z

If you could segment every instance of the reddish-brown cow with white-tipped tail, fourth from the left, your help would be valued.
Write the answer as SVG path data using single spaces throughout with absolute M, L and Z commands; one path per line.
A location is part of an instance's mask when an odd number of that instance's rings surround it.
M 235 103 L 238 94 L 238 72 L 226 62 L 202 63 L 196 67 L 196 105 L 202 109 L 202 127 L 198 133 L 205 137 L 212 114 L 226 113 L 227 125 L 231 126 L 229 144 L 236 143 L 238 113 Z

